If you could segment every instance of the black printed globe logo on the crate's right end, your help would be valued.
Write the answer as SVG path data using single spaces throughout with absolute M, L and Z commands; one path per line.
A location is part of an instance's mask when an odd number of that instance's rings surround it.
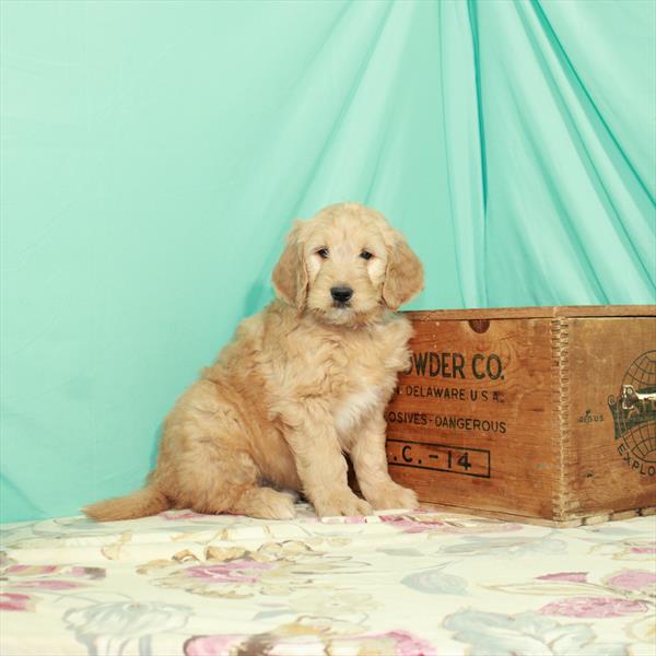
M 656 475 L 656 351 L 640 355 L 626 370 L 620 395 L 608 398 L 618 453 L 631 469 Z

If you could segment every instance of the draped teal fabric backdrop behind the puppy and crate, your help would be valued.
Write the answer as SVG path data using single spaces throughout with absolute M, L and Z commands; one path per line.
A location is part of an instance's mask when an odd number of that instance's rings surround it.
M 327 203 L 415 308 L 655 300 L 651 0 L 0 8 L 2 520 L 139 487 Z

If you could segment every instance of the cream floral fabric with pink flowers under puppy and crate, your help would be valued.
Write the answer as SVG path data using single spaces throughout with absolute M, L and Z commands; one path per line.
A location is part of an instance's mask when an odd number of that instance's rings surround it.
M 298 507 L 5 525 L 0 653 L 656 653 L 655 517 L 551 529 Z

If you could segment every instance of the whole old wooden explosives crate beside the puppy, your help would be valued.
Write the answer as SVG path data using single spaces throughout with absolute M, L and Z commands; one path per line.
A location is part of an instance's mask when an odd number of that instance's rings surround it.
M 389 471 L 421 501 L 573 526 L 656 506 L 656 306 L 407 313 Z

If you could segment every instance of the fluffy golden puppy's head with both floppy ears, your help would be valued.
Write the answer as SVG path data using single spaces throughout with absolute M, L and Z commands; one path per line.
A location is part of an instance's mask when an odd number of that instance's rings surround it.
M 280 298 L 330 324 L 361 324 L 423 289 L 423 269 L 385 218 L 356 203 L 297 221 L 273 270 Z

